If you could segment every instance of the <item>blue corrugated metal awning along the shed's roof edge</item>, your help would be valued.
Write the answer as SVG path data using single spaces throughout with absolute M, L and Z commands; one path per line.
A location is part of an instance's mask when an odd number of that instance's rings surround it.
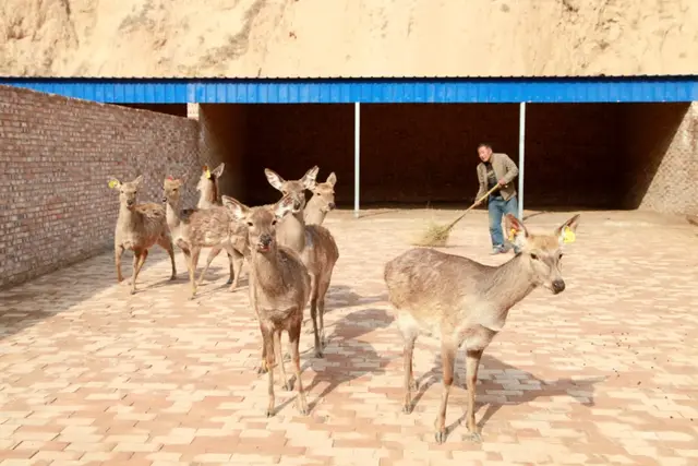
M 361 80 L 0 77 L 0 84 L 107 104 L 562 104 L 698 100 L 698 75 Z

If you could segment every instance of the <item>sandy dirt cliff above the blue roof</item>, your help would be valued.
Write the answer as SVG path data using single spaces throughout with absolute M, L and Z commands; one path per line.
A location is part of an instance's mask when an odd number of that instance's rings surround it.
M 698 74 L 697 0 L 0 0 L 0 74 Z

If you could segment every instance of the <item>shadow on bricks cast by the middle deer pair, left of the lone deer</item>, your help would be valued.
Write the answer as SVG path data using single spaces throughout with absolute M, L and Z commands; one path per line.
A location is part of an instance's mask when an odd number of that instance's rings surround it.
M 387 327 L 392 322 L 393 316 L 384 309 L 362 309 L 348 314 L 334 325 L 333 338 L 328 339 L 325 347 L 323 368 L 316 371 L 312 382 L 304 386 L 310 393 L 314 387 L 324 385 L 322 392 L 309 403 L 311 410 L 337 386 L 366 374 L 380 374 L 385 371 L 390 358 L 380 357 L 370 343 L 360 338 L 370 332 Z M 325 328 L 330 330 L 329 326 Z M 315 361 L 311 357 L 303 363 L 301 372 L 313 362 Z M 291 383 L 294 382 L 292 379 Z

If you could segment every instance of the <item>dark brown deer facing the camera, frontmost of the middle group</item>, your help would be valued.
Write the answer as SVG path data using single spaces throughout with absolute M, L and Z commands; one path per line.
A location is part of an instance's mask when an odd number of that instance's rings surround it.
M 298 408 L 308 414 L 308 403 L 301 381 L 299 342 L 303 309 L 310 296 L 311 278 L 303 261 L 292 249 L 277 244 L 277 223 L 293 210 L 291 195 L 285 195 L 274 205 L 248 207 L 232 198 L 222 202 L 233 217 L 248 227 L 250 244 L 250 304 L 260 322 L 263 350 L 268 374 L 269 403 L 266 416 L 274 416 L 274 366 L 278 361 L 282 385 L 292 390 L 286 379 L 281 357 L 281 332 L 288 333 L 291 360 L 296 372 Z

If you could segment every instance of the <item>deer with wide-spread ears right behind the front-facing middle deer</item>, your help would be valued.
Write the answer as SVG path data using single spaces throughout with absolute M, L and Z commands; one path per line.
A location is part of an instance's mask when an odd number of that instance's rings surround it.
M 325 345 L 325 295 L 329 288 L 335 263 L 339 259 L 339 250 L 327 228 L 321 225 L 305 225 L 303 218 L 305 190 L 315 188 L 318 170 L 315 166 L 300 180 L 289 181 L 268 168 L 264 169 L 264 174 L 269 184 L 293 200 L 291 215 L 286 216 L 277 227 L 277 238 L 279 244 L 287 246 L 300 254 L 310 273 L 310 316 L 315 335 L 315 357 L 322 358 L 322 348 Z

